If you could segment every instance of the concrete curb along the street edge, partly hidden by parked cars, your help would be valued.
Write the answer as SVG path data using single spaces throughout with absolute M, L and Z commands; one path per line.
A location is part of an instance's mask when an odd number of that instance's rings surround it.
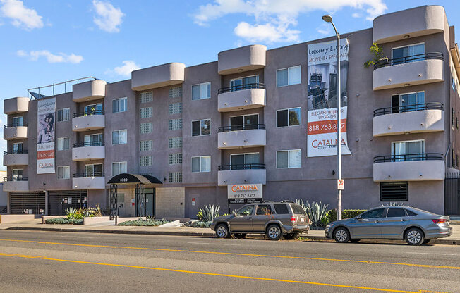
M 174 231 L 140 231 L 140 230 L 96 230 L 96 229 L 62 229 L 52 227 L 9 227 L 6 230 L 29 230 L 29 231 L 48 231 L 48 232 L 83 232 L 83 233 L 107 233 L 107 234 L 138 234 L 138 235 L 170 235 L 170 236 L 196 236 L 196 237 L 216 237 L 214 232 L 174 232 Z M 324 236 L 316 235 L 301 235 L 304 241 L 321 241 L 321 242 L 334 242 L 332 239 L 327 239 Z M 250 235 L 251 239 L 265 239 L 265 235 L 253 234 Z M 389 240 L 389 239 L 364 239 L 360 243 L 406 243 L 404 240 Z M 450 239 L 432 239 L 430 244 L 446 244 L 446 245 L 460 245 L 460 240 Z

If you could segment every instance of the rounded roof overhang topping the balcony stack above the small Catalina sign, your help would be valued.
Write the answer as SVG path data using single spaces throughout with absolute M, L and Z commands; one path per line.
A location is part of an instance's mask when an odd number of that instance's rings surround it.
M 263 45 L 242 46 L 219 52 L 217 71 L 220 75 L 241 73 L 265 67 L 267 47 Z

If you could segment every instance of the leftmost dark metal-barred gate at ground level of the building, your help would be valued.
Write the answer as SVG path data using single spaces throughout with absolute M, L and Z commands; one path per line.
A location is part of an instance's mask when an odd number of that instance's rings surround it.
M 44 192 L 11 192 L 11 213 L 44 215 Z

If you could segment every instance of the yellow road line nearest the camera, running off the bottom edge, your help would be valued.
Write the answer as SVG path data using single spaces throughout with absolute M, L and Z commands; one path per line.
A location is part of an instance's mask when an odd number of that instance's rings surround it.
M 297 283 L 297 284 L 308 284 L 308 285 L 320 285 L 320 286 L 328 286 L 328 287 L 342 287 L 342 288 L 352 288 L 352 289 L 366 289 L 366 290 L 373 290 L 373 291 L 383 291 L 383 292 L 400 292 L 400 293 L 418 293 L 416 291 L 405 291 L 405 290 L 394 290 L 394 289 L 381 289 L 381 288 L 373 288 L 373 287 L 360 287 L 360 286 L 352 286 L 352 285 L 338 285 L 338 284 L 329 284 L 329 283 L 320 283 L 320 282 L 307 282 L 307 281 L 296 281 L 296 280 L 283 280 L 283 279 L 272 279 L 272 278 L 260 278 L 260 277 L 250 277 L 246 275 L 227 275 L 227 274 L 219 274 L 219 273 L 205 273 L 205 272 L 198 272 L 194 270 L 175 270 L 172 268 L 153 268 L 148 266 L 129 266 L 129 265 L 121 265 L 116 263 L 96 263 L 93 261 L 72 261 L 70 259 L 59 259 L 59 258 L 48 258 L 46 256 L 28 256 L 23 254 L 0 254 L 0 256 L 9 256 L 9 257 L 19 257 L 19 258 L 35 258 L 41 259 L 46 261 L 62 261 L 66 263 L 85 263 L 91 265 L 99 265 L 99 266 L 115 266 L 121 268 L 142 268 L 146 270 L 162 270 L 167 272 L 175 272 L 175 273 L 190 273 L 196 275 L 213 275 L 218 277 L 227 277 L 227 278 L 239 278 L 239 279 L 249 279 L 249 280 L 265 280 L 265 281 L 275 281 L 275 282 L 287 282 L 287 283 Z

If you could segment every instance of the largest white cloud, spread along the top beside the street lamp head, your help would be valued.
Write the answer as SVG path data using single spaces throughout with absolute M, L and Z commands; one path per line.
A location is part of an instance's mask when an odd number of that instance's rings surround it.
M 202 5 L 193 15 L 198 25 L 208 25 L 212 20 L 225 15 L 243 14 L 253 18 L 253 23 L 238 23 L 235 35 L 250 42 L 298 42 L 300 31 L 293 30 L 301 14 L 312 11 L 334 13 L 351 7 L 367 13 L 366 19 L 385 12 L 384 0 L 214 0 Z M 327 31 L 318 29 L 321 34 Z

